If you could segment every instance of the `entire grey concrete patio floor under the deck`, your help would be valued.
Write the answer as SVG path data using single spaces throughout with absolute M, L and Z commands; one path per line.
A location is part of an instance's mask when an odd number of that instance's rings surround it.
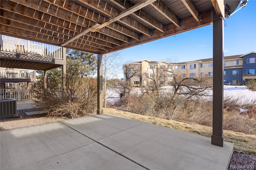
M 227 169 L 233 144 L 114 115 L 4 130 L 1 170 Z

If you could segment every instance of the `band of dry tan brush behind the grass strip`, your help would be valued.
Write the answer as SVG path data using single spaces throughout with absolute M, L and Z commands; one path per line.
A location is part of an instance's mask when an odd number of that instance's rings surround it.
M 122 99 L 123 109 L 142 115 L 149 114 L 164 119 L 174 119 L 206 125 L 212 127 L 212 101 L 198 98 L 186 100 L 186 97 L 178 96 L 172 100 L 172 94 L 147 93 L 145 95 L 132 95 Z M 148 102 L 146 104 L 145 102 Z M 124 106 L 124 105 L 122 105 Z M 149 107 L 149 108 L 147 108 Z M 246 110 L 239 113 L 239 108 Z M 149 112 L 150 110 L 150 112 Z M 242 98 L 224 99 L 223 127 L 226 130 L 256 134 L 256 101 L 244 101 Z

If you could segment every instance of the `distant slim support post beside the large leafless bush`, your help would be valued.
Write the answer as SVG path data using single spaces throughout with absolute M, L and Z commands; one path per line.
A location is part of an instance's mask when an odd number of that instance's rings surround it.
M 97 114 L 103 114 L 103 96 L 102 96 L 102 55 L 98 54 L 97 59 Z

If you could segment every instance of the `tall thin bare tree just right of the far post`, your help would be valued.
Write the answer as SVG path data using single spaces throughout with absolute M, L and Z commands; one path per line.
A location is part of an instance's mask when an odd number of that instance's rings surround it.
M 122 56 L 120 52 L 113 52 L 104 54 L 103 56 L 103 102 L 104 107 L 106 107 L 106 100 L 108 97 L 111 97 L 113 94 L 108 93 L 107 97 L 107 88 L 109 87 L 109 80 L 115 79 L 118 77 L 120 62 L 122 60 Z

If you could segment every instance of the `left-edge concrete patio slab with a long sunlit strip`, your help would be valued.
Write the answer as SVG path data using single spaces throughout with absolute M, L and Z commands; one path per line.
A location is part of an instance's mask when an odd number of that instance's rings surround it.
M 0 132 L 1 170 L 23 169 L 94 141 L 60 122 Z

